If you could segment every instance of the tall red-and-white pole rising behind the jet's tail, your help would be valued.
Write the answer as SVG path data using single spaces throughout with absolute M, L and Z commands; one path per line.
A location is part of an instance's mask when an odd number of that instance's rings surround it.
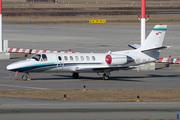
M 146 39 L 146 0 L 141 0 L 141 45 Z

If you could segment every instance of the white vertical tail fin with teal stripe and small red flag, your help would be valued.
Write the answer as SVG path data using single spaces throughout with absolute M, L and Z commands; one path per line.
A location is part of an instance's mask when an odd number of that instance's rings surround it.
M 146 51 L 155 48 L 161 48 L 167 25 L 156 25 L 149 36 L 146 38 L 144 44 L 139 48 L 141 51 Z

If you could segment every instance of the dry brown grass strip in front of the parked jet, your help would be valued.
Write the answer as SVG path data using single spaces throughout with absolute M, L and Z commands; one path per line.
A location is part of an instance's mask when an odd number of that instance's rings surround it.
M 45 89 L 0 90 L 0 97 L 63 101 L 141 102 L 180 101 L 180 89 Z

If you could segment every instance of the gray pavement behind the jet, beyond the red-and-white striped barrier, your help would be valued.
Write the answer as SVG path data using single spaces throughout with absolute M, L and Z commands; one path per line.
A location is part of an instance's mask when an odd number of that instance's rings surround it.
M 159 23 L 160 24 L 160 23 Z M 155 25 L 147 25 L 147 35 Z M 180 25 L 168 25 L 160 57 L 179 58 Z M 140 44 L 140 25 L 11 25 L 3 24 L 9 47 L 74 52 L 108 52 Z

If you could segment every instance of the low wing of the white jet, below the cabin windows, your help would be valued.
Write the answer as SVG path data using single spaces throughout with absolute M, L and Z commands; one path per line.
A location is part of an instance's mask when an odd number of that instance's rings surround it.
M 136 66 L 123 66 L 123 67 L 99 67 L 99 68 L 76 68 L 77 72 L 81 71 L 96 71 L 96 72 L 104 72 L 104 71 L 117 71 L 117 70 L 130 70 L 136 68 Z

